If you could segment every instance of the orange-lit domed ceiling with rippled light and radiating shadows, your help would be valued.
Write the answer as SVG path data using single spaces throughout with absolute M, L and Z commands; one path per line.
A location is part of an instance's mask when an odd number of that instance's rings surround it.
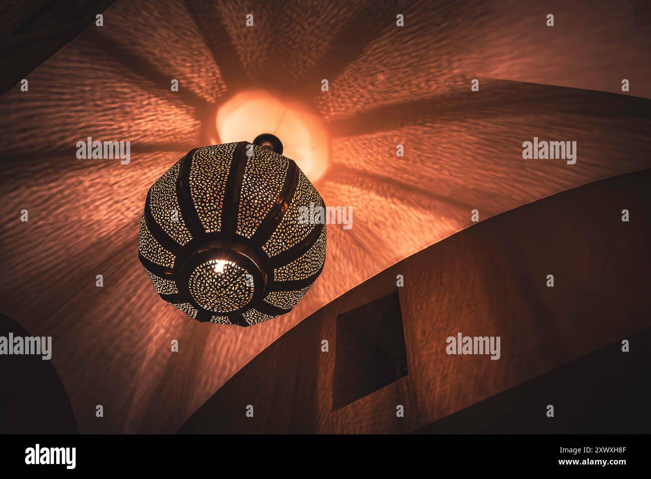
M 650 167 L 651 31 L 629 3 L 320 4 L 118 0 L 104 27 L 27 76 L 29 91 L 0 98 L 3 313 L 53 336 L 79 431 L 176 431 L 286 330 L 469 226 L 471 210 L 485 219 Z M 320 115 L 330 157 L 315 186 L 353 207 L 353 227 L 329 228 L 324 272 L 292 313 L 218 327 L 156 295 L 137 260 L 139 218 L 151 184 L 212 143 L 219 106 L 251 87 Z M 534 136 L 577 141 L 577 163 L 523 160 Z M 132 141 L 130 163 L 78 160 L 87 137 Z

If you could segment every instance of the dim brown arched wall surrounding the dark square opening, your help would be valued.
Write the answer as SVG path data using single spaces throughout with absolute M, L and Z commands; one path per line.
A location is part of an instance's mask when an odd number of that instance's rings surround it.
M 491 432 L 516 422 L 529 434 L 603 433 L 609 423 L 626 431 L 631 426 L 622 416 L 628 414 L 636 431 L 648 430 L 651 414 L 639 411 L 651 393 L 633 379 L 630 356 L 619 358 L 628 355 L 621 353 L 622 338 L 651 355 L 650 340 L 631 337 L 651 327 L 650 184 L 651 169 L 592 182 L 411 255 L 301 321 L 219 388 L 179 432 L 407 433 L 466 407 L 484 407 L 485 399 L 607 344 L 608 362 L 617 366 L 592 364 L 585 377 L 574 378 L 575 385 L 597 383 L 602 390 L 587 386 L 568 394 L 551 382 L 538 396 L 511 398 L 506 411 L 485 411 L 455 432 L 480 424 L 490 424 L 484 432 Z M 620 221 L 622 203 L 635 212 L 635 221 Z M 553 288 L 546 285 L 549 272 Z M 404 276 L 402 287 L 396 287 L 397 274 Z M 390 310 L 394 301 L 393 313 L 368 312 L 378 302 Z M 447 338 L 459 332 L 501 338 L 499 360 L 449 355 Z M 402 358 L 406 375 L 395 371 Z M 639 361 L 648 369 L 648 356 Z M 645 375 L 643 369 L 637 374 Z M 609 370 L 630 375 L 630 384 L 622 381 L 613 392 L 623 407 L 601 402 L 611 389 L 612 378 L 602 379 Z M 242 413 L 249 404 L 255 420 Z M 558 421 L 532 413 L 547 404 L 562 411 Z M 404 407 L 403 417 L 393 413 L 396 405 Z M 592 424 L 568 428 L 590 410 Z

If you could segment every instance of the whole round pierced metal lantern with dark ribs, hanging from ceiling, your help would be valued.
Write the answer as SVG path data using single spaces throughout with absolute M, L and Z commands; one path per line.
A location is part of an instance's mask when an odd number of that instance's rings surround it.
M 323 269 L 321 196 L 282 143 L 197 148 L 150 188 L 138 257 L 165 301 L 197 319 L 247 327 L 290 312 Z

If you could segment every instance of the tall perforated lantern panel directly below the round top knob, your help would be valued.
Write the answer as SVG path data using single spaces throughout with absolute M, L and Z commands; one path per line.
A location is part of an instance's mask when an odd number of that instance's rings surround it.
M 236 230 L 238 235 L 247 238 L 253 236 L 281 194 L 289 165 L 289 160 L 284 156 L 254 147 L 253 156 L 247 157 L 244 169 Z

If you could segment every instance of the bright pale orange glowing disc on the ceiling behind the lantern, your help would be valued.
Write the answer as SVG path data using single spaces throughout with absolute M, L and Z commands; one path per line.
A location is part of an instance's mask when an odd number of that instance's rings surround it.
M 283 155 L 292 158 L 315 182 L 327 169 L 327 136 L 317 115 L 296 102 L 281 101 L 266 91 L 238 93 L 217 111 L 220 143 L 253 141 L 271 133 L 283 142 Z

